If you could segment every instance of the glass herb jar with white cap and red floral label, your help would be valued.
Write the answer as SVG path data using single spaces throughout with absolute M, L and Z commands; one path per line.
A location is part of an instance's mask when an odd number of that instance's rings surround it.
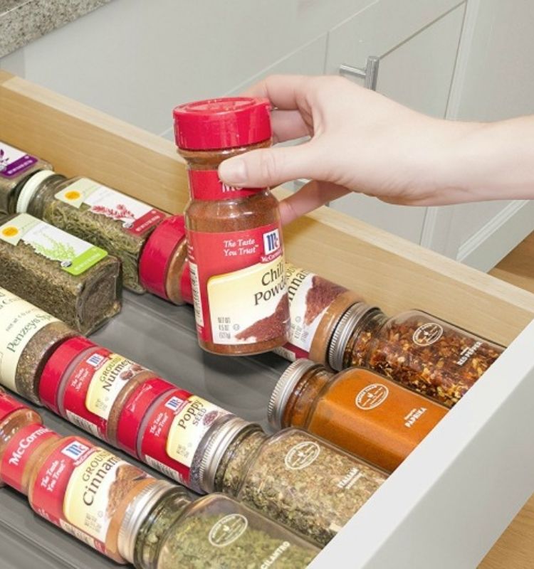
M 88 178 L 66 179 L 46 171 L 19 191 L 16 211 L 28 212 L 108 251 L 122 261 L 127 289 L 145 292 L 139 258 L 152 230 L 166 214 Z

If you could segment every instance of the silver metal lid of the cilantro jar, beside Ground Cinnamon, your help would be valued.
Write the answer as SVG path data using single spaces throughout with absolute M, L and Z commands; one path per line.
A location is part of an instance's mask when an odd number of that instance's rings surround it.
M 133 563 L 137 533 L 146 519 L 147 512 L 172 488 L 174 484 L 171 482 L 156 480 L 154 484 L 145 486 L 127 507 L 119 528 L 117 546 L 120 555 L 128 562 Z

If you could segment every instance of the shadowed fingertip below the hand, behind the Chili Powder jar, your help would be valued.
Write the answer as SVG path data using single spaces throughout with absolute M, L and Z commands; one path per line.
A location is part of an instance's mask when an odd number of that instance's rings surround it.
M 299 191 L 280 202 L 280 216 L 283 225 L 310 213 L 325 203 L 350 193 L 350 190 L 331 182 L 310 181 Z

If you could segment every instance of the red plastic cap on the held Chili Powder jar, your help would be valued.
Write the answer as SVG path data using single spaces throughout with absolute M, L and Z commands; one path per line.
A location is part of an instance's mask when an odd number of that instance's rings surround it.
M 236 148 L 268 140 L 271 103 L 253 97 L 189 102 L 174 109 L 174 137 L 184 150 Z

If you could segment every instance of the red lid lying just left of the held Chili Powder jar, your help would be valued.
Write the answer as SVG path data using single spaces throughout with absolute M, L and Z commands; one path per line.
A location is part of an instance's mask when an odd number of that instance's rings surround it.
M 172 216 L 159 223 L 145 243 L 139 261 L 143 287 L 166 300 L 167 269 L 172 253 L 185 239 L 184 216 Z

